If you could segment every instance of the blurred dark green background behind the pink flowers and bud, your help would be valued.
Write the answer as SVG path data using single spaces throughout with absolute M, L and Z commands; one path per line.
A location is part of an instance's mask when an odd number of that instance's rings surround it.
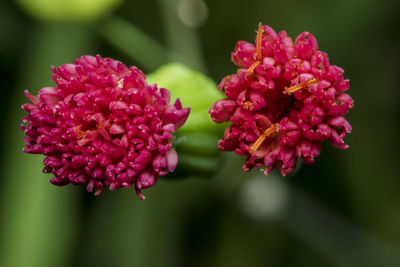
M 0 2 L 0 266 L 400 266 L 399 3 Z M 219 83 L 260 21 L 310 31 L 345 69 L 348 151 L 324 144 L 286 178 L 245 174 L 224 153 L 215 177 L 160 179 L 145 201 L 53 186 L 43 158 L 22 152 L 23 91 L 53 84 L 51 65 L 101 54 L 151 73 L 179 61 Z

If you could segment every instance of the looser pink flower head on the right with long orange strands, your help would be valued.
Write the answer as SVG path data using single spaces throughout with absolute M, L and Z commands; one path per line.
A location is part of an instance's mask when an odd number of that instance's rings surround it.
M 239 41 L 232 61 L 239 70 L 222 80 L 226 98 L 209 113 L 216 123 L 231 123 L 218 148 L 246 156 L 245 171 L 266 166 L 268 174 L 278 165 L 286 175 L 299 157 L 313 163 L 324 140 L 348 148 L 351 125 L 343 116 L 353 108 L 345 93 L 349 81 L 312 34 L 293 42 L 285 31 L 260 24 L 255 45 Z

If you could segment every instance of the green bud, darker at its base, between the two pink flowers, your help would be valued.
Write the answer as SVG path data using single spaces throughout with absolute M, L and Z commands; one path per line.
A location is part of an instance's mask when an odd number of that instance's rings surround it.
M 179 97 L 184 107 L 192 108 L 185 125 L 175 133 L 173 144 L 179 162 L 173 176 L 214 174 L 221 163 L 218 139 L 224 130 L 208 114 L 211 105 L 222 97 L 216 83 L 180 63 L 161 67 L 148 75 L 147 81 L 167 88 L 173 101 Z

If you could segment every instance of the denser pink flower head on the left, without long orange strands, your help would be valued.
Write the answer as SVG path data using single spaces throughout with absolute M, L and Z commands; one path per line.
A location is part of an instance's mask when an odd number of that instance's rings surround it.
M 85 184 L 95 195 L 135 185 L 144 199 L 142 189 L 174 171 L 172 135 L 190 108 L 179 99 L 169 105 L 167 89 L 110 58 L 83 56 L 52 70 L 56 87 L 25 92 L 32 104 L 22 105 L 24 151 L 45 155 L 43 171 L 55 185 Z

